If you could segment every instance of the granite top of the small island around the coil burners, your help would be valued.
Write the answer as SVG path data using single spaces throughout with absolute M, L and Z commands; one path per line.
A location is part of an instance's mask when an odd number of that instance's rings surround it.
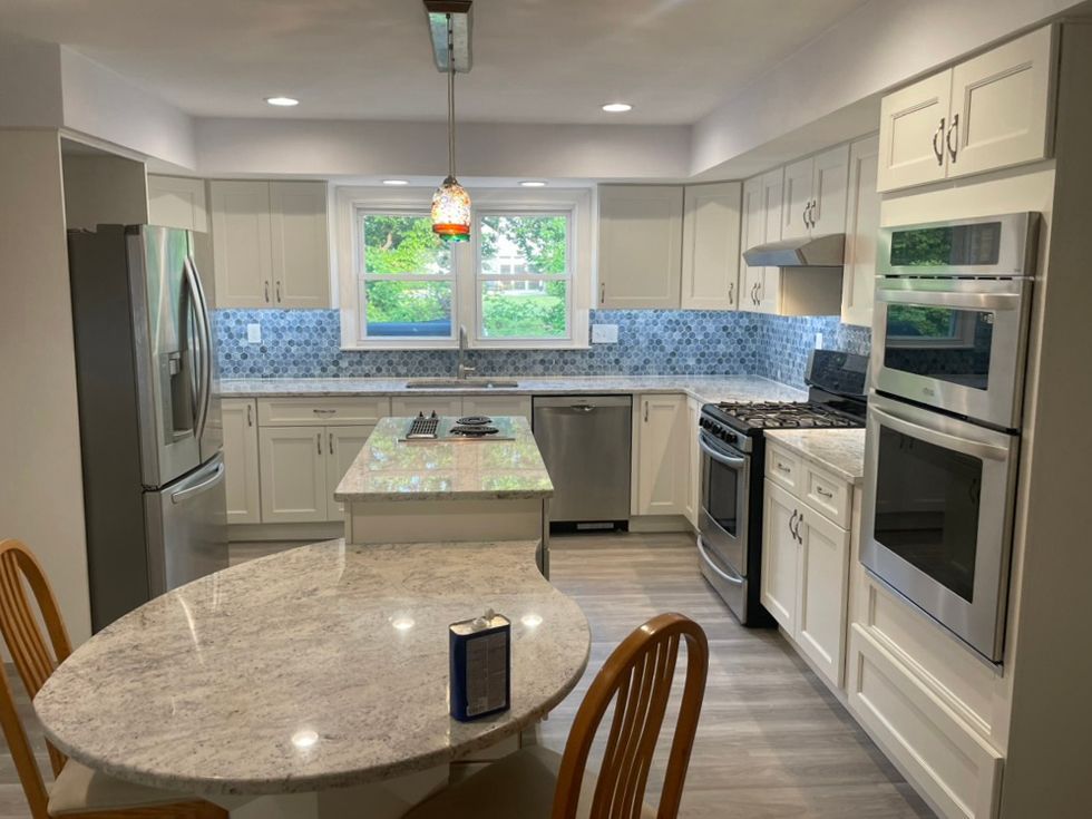
M 526 418 L 495 417 L 514 440 L 400 441 L 411 418 L 383 418 L 341 479 L 340 501 L 548 498 L 554 485 Z M 441 418 L 450 429 L 455 418 Z

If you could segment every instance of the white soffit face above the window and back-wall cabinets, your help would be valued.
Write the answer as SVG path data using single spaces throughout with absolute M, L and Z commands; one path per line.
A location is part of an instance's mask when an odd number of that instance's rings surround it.
M 684 177 L 685 126 L 459 125 L 459 176 Z M 203 176 L 443 175 L 446 123 L 198 119 Z

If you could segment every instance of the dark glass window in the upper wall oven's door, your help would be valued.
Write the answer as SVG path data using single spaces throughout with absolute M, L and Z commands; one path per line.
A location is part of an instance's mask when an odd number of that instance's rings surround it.
M 887 305 L 884 365 L 985 390 L 994 314 L 919 304 Z

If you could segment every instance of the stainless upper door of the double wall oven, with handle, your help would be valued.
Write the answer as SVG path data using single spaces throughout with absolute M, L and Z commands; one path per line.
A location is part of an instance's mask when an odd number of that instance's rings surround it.
M 1020 427 L 1030 279 L 878 279 L 872 386 Z

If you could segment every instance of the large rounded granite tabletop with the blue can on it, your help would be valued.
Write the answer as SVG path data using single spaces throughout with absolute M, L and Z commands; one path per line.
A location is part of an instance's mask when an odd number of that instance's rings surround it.
M 550 711 L 587 665 L 538 543 L 303 546 L 182 586 L 84 643 L 35 698 L 84 764 L 198 794 L 295 793 L 426 770 Z M 448 714 L 448 625 L 511 620 L 510 711 Z

